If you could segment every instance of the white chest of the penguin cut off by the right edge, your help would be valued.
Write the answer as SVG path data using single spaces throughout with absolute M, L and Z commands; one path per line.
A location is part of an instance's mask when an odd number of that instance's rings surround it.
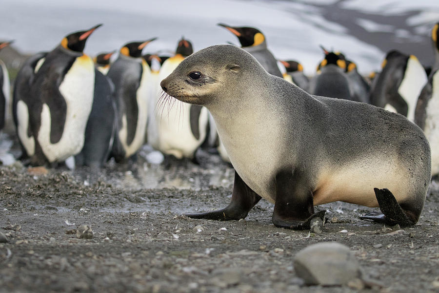
M 433 76 L 432 95 L 426 107 L 425 136 L 431 148 L 432 175 L 439 173 L 439 71 Z

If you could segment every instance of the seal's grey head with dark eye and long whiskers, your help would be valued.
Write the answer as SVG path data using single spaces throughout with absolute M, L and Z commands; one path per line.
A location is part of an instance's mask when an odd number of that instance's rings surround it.
M 208 105 L 236 98 L 269 75 L 249 53 L 234 45 L 215 45 L 184 59 L 160 86 L 186 103 Z

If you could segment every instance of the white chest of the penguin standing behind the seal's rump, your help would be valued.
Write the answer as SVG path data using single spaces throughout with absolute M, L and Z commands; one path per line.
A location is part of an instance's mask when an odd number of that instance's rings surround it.
M 415 119 L 415 108 L 419 94 L 427 81 L 424 67 L 415 56 L 411 55 L 407 61 L 404 77 L 399 84 L 398 93 L 408 105 L 407 119 L 412 122 Z

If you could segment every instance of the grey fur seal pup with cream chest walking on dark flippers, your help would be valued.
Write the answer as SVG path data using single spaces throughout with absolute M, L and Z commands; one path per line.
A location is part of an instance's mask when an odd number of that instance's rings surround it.
M 413 225 L 430 183 L 421 129 L 379 107 L 313 96 L 268 74 L 250 54 L 215 45 L 183 60 L 161 82 L 180 101 L 204 105 L 235 167 L 224 209 L 187 214 L 238 220 L 262 198 L 276 227 L 309 229 L 314 206 L 334 201 L 378 207 L 364 216 Z

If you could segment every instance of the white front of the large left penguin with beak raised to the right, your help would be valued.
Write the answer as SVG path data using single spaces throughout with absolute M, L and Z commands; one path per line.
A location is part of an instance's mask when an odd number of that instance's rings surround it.
M 47 104 L 42 105 L 41 127 L 38 142 L 49 162 L 63 161 L 80 152 L 84 145 L 85 127 L 93 105 L 95 89 L 95 68 L 86 55 L 76 59 L 60 84 L 66 108 L 66 117 L 61 139 L 50 142 L 51 115 Z M 50 99 L 50 97 L 48 97 Z

